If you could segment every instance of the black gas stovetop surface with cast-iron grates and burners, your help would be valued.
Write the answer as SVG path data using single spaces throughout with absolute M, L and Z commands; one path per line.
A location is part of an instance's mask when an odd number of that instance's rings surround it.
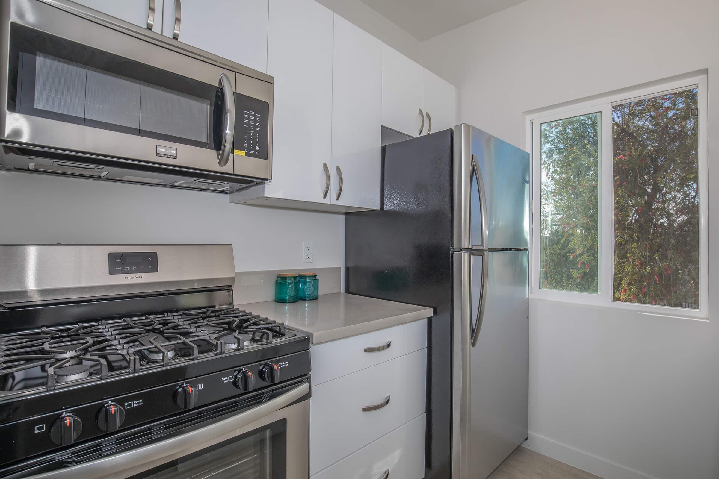
M 296 336 L 283 323 L 233 307 L 14 332 L 0 335 L 0 399 L 173 368 Z

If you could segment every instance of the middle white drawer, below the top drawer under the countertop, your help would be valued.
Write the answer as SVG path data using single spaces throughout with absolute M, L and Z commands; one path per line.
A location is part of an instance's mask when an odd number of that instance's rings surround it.
M 425 411 L 426 349 L 312 386 L 310 474 Z M 386 406 L 379 407 L 389 398 Z M 367 406 L 375 410 L 364 411 Z

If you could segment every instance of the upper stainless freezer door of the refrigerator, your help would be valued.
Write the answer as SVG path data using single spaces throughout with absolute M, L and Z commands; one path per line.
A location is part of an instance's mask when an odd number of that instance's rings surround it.
M 529 154 L 474 126 L 454 127 L 456 249 L 528 248 Z

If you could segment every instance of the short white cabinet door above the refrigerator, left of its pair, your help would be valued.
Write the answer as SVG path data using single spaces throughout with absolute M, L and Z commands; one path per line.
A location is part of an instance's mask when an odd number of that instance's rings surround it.
M 387 45 L 382 45 L 382 124 L 411 136 L 422 125 L 419 108 L 423 102 L 421 65 Z M 425 130 L 422 131 L 424 133 Z

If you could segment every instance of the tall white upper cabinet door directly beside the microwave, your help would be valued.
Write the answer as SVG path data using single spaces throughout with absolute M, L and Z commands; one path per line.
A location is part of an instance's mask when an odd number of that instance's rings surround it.
M 275 77 L 273 179 L 265 196 L 329 203 L 332 27 L 313 0 L 271 0 L 267 73 Z

